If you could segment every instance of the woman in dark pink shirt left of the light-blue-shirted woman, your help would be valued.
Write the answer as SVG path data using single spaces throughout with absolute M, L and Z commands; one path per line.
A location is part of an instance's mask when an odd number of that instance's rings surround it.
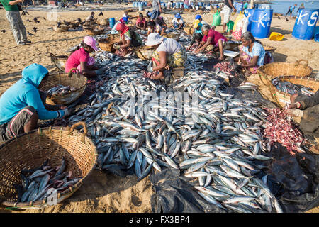
M 214 28 L 214 27 L 213 27 Z M 215 31 L 211 28 L 209 25 L 204 25 L 202 28 L 203 32 L 203 40 L 198 45 L 198 48 L 196 49 L 196 53 L 201 52 L 203 50 L 213 50 L 216 51 L 216 48 L 219 48 L 220 51 L 220 57 L 218 60 L 224 60 L 224 44 L 228 41 L 225 36 L 223 36 L 221 33 L 218 33 L 218 31 Z

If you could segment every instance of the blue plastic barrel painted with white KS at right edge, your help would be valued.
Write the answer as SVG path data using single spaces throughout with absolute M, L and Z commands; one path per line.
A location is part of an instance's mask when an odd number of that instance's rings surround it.
M 301 9 L 298 12 L 295 26 L 293 27 L 293 38 L 310 40 L 315 35 L 315 25 L 318 21 L 319 9 Z

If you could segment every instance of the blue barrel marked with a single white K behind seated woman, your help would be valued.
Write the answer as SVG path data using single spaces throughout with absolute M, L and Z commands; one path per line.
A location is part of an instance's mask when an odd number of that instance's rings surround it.
M 254 38 L 267 38 L 272 23 L 272 9 L 255 9 L 252 14 L 251 33 Z

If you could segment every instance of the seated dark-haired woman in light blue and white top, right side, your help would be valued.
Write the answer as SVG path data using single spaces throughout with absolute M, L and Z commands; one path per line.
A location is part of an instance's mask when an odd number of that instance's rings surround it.
M 249 31 L 242 34 L 241 40 L 240 57 L 236 57 L 235 62 L 248 69 L 246 75 L 257 73 L 257 69 L 264 65 L 266 54 L 264 47 Z

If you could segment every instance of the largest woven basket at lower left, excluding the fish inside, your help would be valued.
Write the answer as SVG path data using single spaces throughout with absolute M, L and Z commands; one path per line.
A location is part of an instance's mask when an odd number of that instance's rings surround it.
M 84 133 L 75 130 L 77 126 L 83 126 Z M 72 196 L 96 165 L 96 147 L 86 133 L 85 123 L 79 122 L 72 128 L 38 128 L 1 144 L 0 197 L 5 199 L 1 204 L 9 208 L 41 209 Z M 21 170 L 40 167 L 46 160 L 49 160 L 48 165 L 51 167 L 58 167 L 62 163 L 62 157 L 67 163 L 65 171 L 72 171 L 72 178 L 82 179 L 63 192 L 58 192 L 55 201 L 43 199 L 30 203 L 17 202 L 18 193 L 13 184 L 21 185 Z

